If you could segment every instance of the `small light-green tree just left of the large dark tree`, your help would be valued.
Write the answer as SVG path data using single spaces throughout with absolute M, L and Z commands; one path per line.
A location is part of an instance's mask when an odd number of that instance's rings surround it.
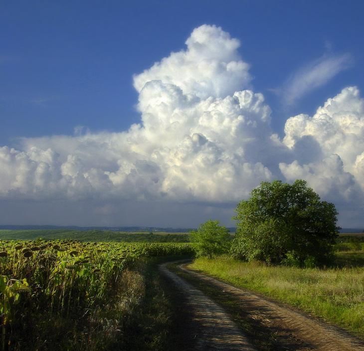
M 189 236 L 196 243 L 197 255 L 208 258 L 228 252 L 231 244 L 228 229 L 219 225 L 218 220 L 208 220 L 197 230 L 192 230 Z

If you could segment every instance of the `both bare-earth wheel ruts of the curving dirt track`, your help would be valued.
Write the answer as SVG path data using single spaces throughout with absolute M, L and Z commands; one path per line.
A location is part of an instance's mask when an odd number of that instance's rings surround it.
M 173 280 L 183 291 L 199 329 L 196 351 L 200 350 L 319 350 L 319 351 L 364 351 L 364 342 L 345 331 L 329 326 L 317 319 L 299 313 L 287 306 L 270 301 L 249 291 L 235 288 L 211 277 L 188 270 L 185 265 L 179 269 L 194 285 L 208 286 L 228 300 L 234 301 L 234 309 L 246 321 L 252 321 L 254 328 L 262 330 L 261 335 L 274 335 L 275 346 L 260 347 L 261 341 L 250 338 L 249 333 L 236 326 L 226 312 L 201 291 L 166 268 L 163 274 Z M 189 279 L 190 278 L 190 279 Z M 246 335 L 248 337 L 246 337 Z

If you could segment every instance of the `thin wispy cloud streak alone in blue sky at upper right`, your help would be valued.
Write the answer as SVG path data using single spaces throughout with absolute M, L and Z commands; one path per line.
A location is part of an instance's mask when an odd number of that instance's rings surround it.
M 286 81 L 280 90 L 283 103 L 293 105 L 297 100 L 325 85 L 338 73 L 347 69 L 352 61 L 350 54 L 325 55 L 301 67 Z

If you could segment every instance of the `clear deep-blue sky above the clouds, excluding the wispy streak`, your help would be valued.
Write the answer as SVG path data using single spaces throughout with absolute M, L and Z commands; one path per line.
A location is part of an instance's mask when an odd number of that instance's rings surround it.
M 241 40 L 252 86 L 282 133 L 288 116 L 313 113 L 343 86 L 364 86 L 363 1 L 10 1 L 0 14 L 2 145 L 19 136 L 121 131 L 140 120 L 132 75 L 183 48 L 207 23 Z M 324 55 L 350 68 L 284 106 L 277 89 Z

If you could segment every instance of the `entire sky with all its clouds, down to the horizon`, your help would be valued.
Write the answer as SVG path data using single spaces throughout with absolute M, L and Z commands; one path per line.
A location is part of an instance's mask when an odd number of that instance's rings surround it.
M 0 4 L 0 224 L 232 225 L 303 178 L 364 227 L 363 1 Z

